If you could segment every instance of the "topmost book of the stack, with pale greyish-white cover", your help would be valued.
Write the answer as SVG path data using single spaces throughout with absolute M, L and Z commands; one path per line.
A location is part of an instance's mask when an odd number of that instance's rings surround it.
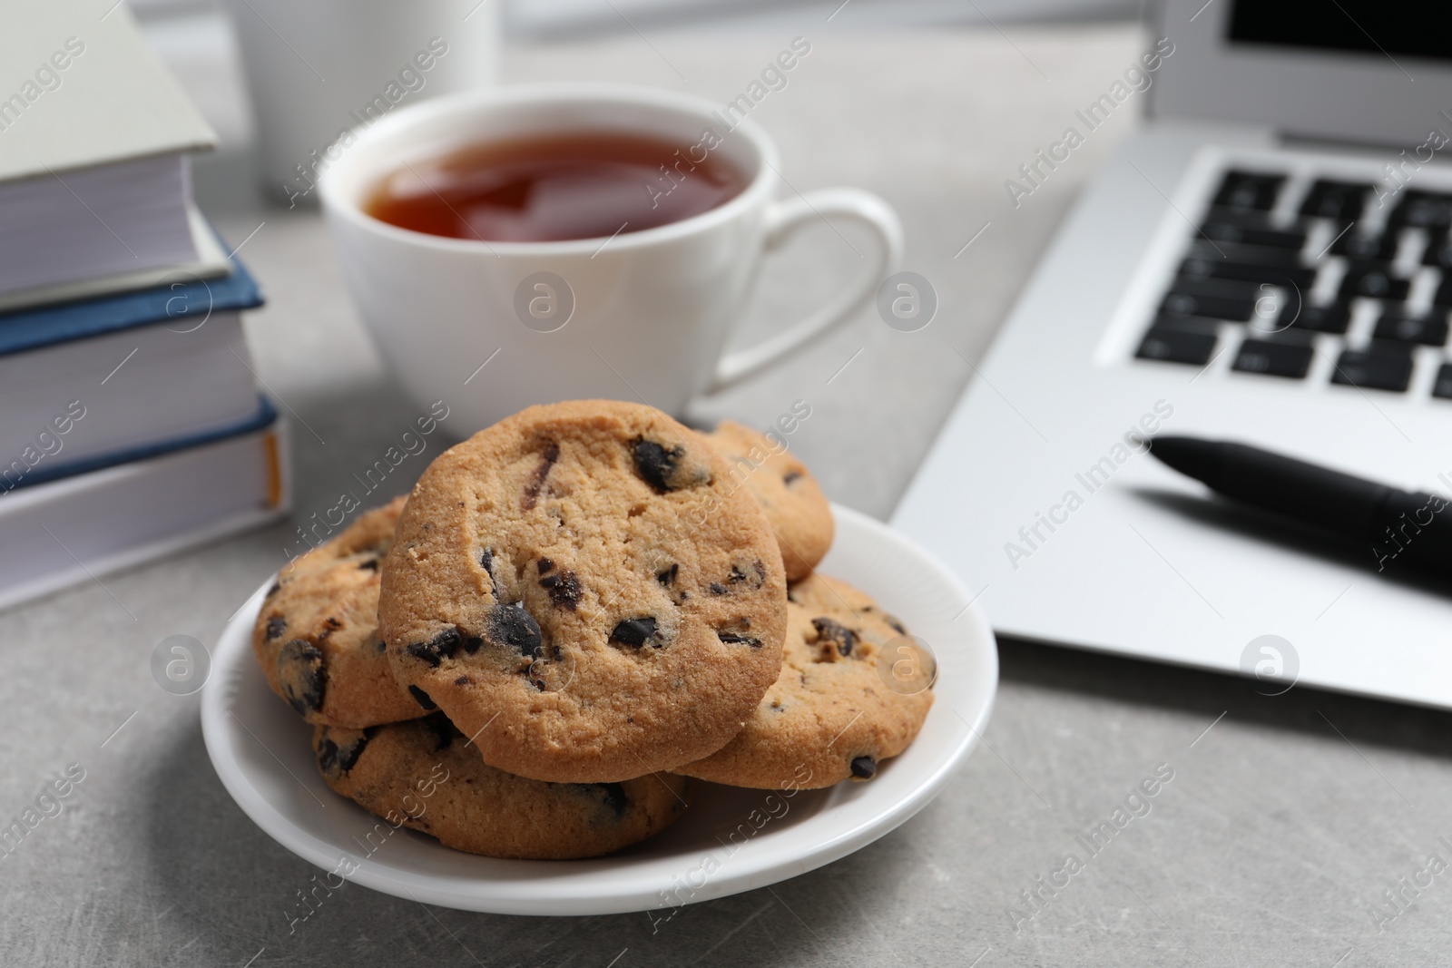
M 224 271 L 197 247 L 186 157 L 216 136 L 112 1 L 6 4 L 0 305 L 97 277 Z

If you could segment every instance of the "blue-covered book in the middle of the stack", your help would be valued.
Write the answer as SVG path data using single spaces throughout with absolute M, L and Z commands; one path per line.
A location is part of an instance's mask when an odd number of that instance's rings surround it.
M 242 334 L 247 268 L 0 313 L 0 495 L 270 419 Z

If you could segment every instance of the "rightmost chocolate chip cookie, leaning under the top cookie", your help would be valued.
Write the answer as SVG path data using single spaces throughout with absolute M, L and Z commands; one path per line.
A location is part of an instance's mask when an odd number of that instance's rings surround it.
M 880 670 L 889 643 L 894 650 L 889 669 L 894 660 L 931 662 L 913 646 L 893 641 L 905 633 L 902 623 L 847 582 L 817 573 L 793 585 L 781 676 L 736 739 L 675 772 L 761 789 L 871 779 L 881 760 L 908 749 L 932 707 L 931 689 L 905 695 L 889 685 L 892 673 L 884 678 Z

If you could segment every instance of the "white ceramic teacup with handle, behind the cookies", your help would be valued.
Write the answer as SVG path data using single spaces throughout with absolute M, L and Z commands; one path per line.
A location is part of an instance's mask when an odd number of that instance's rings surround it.
M 781 165 L 771 138 L 749 119 L 726 128 L 717 112 L 653 89 L 542 84 L 441 97 L 359 134 L 324 174 L 322 206 L 348 290 L 415 401 L 443 399 L 475 428 L 531 403 L 582 398 L 681 414 L 697 393 L 784 358 L 867 302 L 902 257 L 896 213 L 858 189 L 775 200 Z M 653 135 L 682 152 L 711 131 L 720 144 L 710 151 L 745 173 L 746 187 L 680 222 L 559 242 L 428 235 L 362 208 L 405 163 L 463 144 L 588 131 Z M 762 254 L 823 218 L 877 235 L 858 279 L 764 343 L 723 353 Z

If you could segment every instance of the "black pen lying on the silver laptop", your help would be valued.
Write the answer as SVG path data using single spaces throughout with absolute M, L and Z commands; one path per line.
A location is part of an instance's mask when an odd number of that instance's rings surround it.
M 1391 563 L 1452 570 L 1452 514 L 1445 498 L 1273 454 L 1195 437 L 1154 437 L 1150 453 L 1211 491 L 1294 518 Z

